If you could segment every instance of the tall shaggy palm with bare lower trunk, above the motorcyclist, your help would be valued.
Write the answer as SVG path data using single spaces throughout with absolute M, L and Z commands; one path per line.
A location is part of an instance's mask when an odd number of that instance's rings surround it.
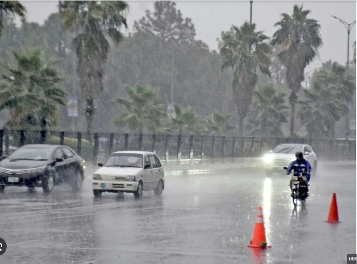
M 282 18 L 274 26 L 278 30 L 274 33 L 272 46 L 281 45 L 283 50 L 278 54 L 281 63 L 286 68 L 286 82 L 291 90 L 289 103 L 290 135 L 294 134 L 296 93 L 304 80 L 304 70 L 317 55 L 322 46 L 320 25 L 315 19 L 307 18 L 310 10 L 303 10 L 303 6 L 294 5 L 293 14 L 281 14 Z

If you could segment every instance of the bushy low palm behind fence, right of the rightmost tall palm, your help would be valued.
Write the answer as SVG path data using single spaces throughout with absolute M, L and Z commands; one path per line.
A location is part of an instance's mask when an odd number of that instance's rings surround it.
M 315 81 L 312 88 L 305 89 L 304 93 L 306 99 L 299 102 L 303 106 L 299 115 L 309 137 L 334 137 L 335 122 L 347 110 L 335 86 Z

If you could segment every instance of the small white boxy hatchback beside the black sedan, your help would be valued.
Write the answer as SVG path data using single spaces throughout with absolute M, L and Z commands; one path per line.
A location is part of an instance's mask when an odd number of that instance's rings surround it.
M 164 170 L 154 152 L 117 151 L 111 153 L 104 164 L 93 174 L 94 196 L 103 192 L 134 193 L 140 198 L 143 191 L 160 196 L 165 188 Z

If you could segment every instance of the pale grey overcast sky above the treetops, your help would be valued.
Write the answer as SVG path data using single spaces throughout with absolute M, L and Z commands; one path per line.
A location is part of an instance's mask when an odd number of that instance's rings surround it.
M 58 1 L 20 1 L 27 9 L 29 22 L 43 24 L 53 12 L 58 12 Z M 177 1 L 177 8 L 184 17 L 191 17 L 196 27 L 196 39 L 201 39 L 210 49 L 217 49 L 217 37 L 222 30 L 228 30 L 232 24 L 240 26 L 249 21 L 249 1 Z M 127 15 L 129 29 L 132 31 L 134 21 L 145 14 L 146 9 L 153 10 L 153 1 L 128 1 L 130 11 Z M 304 5 L 310 9 L 310 17 L 321 25 L 323 47 L 320 57 L 316 58 L 306 72 L 320 67 L 326 60 L 334 60 L 340 64 L 346 63 L 347 58 L 347 30 L 339 21 L 331 17 L 335 15 L 347 23 L 355 21 L 355 1 L 254 1 L 253 23 L 258 30 L 272 36 L 276 28 L 274 24 L 280 19 L 280 13 L 291 14 L 293 6 Z M 352 44 L 356 39 L 356 27 L 350 35 L 350 59 L 353 56 Z

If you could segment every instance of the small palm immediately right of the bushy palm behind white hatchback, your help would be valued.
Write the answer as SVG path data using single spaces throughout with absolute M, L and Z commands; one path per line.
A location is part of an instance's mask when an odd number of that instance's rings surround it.
M 202 120 L 194 108 L 182 108 L 175 104 L 174 109 L 176 116 L 171 117 L 171 124 L 180 135 L 182 133 L 200 134 L 202 132 Z

